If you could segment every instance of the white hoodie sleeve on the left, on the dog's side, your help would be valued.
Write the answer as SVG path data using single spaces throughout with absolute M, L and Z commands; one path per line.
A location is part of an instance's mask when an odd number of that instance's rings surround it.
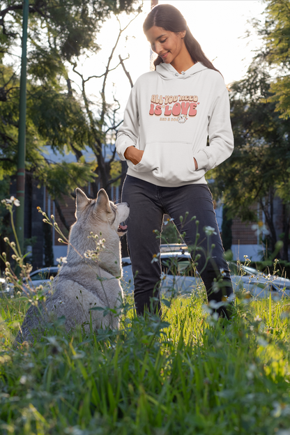
M 132 88 L 125 108 L 124 122 L 116 137 L 116 151 L 121 160 L 126 160 L 124 153 L 128 146 L 136 146 L 139 136 L 139 113 L 135 88 Z

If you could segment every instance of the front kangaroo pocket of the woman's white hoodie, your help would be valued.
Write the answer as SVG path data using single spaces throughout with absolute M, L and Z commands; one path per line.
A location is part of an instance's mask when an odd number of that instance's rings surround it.
M 138 172 L 152 171 L 155 178 L 169 184 L 190 182 L 195 178 L 192 144 L 148 142 L 142 160 L 130 167 Z

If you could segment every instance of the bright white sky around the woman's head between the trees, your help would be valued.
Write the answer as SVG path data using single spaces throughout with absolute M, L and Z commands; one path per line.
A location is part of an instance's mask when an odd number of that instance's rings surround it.
M 259 38 L 252 35 L 245 38 L 247 29 L 251 29 L 247 20 L 258 18 L 265 9 L 264 1 L 257 0 L 159 0 L 159 3 L 170 3 L 176 6 L 188 22 L 192 31 L 208 59 L 213 61 L 215 68 L 220 70 L 226 84 L 241 79 L 249 66 L 253 50 L 259 47 Z M 135 82 L 139 75 L 150 69 L 150 47 L 142 25 L 151 8 L 151 0 L 144 0 L 143 13 L 128 26 L 112 59 L 112 66 L 122 58 L 130 55 L 125 61 L 125 67 Z M 127 15 L 121 17 L 121 25 L 128 24 Z M 98 54 L 86 59 L 79 70 L 84 75 L 100 75 L 105 71 L 105 63 L 114 46 L 119 31 L 119 23 L 115 17 L 106 22 L 98 34 L 98 44 L 101 50 Z M 77 82 L 76 76 L 72 78 Z M 102 86 L 101 79 L 92 79 L 86 85 L 91 100 L 98 100 Z M 121 104 L 120 116 L 123 116 L 125 103 L 130 94 L 130 83 L 121 67 L 110 73 L 107 80 L 107 100 L 112 102 L 113 93 Z M 121 118 L 120 118 L 121 119 Z

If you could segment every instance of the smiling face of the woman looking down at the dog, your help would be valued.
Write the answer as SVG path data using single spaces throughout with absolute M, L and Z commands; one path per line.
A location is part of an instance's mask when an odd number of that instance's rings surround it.
M 186 31 L 178 33 L 153 26 L 146 31 L 146 38 L 151 43 L 151 49 L 162 58 L 165 63 L 172 63 L 178 56 L 182 56 L 185 49 L 183 38 Z

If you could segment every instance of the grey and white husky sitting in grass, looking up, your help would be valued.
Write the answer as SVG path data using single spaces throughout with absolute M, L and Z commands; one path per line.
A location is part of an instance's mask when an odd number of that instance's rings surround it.
M 96 199 L 89 199 L 79 188 L 75 204 L 77 220 L 70 228 L 67 263 L 54 278 L 45 302 L 31 305 L 27 311 L 15 344 L 38 338 L 45 323 L 60 316 L 66 318 L 67 331 L 77 325 L 86 331 L 91 325 L 93 330 L 119 328 L 118 315 L 109 311 L 104 316 L 103 310 L 91 308 L 108 307 L 118 312 L 122 303 L 119 236 L 126 232 L 127 226 L 120 223 L 127 219 L 129 206 L 109 201 L 104 189 Z M 103 245 L 99 252 L 98 243 Z

